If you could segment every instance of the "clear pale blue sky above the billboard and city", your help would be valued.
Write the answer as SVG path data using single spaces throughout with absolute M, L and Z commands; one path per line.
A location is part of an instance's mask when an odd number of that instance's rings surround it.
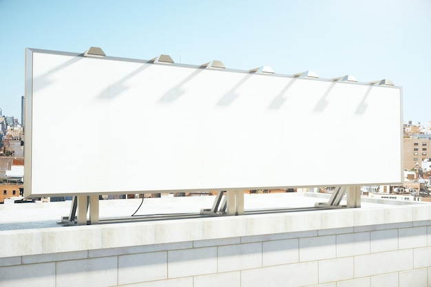
M 431 0 L 0 0 L 0 108 L 21 120 L 25 47 L 95 46 L 125 58 L 389 78 L 403 86 L 404 120 L 427 123 L 430 15 Z

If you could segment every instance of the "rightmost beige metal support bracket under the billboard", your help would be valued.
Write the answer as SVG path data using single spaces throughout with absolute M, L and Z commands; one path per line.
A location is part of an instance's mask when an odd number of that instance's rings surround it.
M 347 204 L 341 205 L 345 193 L 347 194 Z M 317 202 L 315 207 L 330 209 L 361 207 L 361 187 L 336 187 L 328 202 Z

